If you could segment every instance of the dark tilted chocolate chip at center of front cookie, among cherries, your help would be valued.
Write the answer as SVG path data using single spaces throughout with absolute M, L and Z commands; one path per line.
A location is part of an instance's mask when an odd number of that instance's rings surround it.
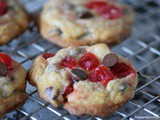
M 74 80 L 85 80 L 88 78 L 87 74 L 83 71 L 83 70 L 80 70 L 80 69 L 73 69 L 71 70 L 72 74 L 73 74 L 73 79 Z

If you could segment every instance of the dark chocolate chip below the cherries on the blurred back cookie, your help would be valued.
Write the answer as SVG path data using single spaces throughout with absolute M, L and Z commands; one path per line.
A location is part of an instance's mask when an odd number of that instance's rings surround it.
M 82 11 L 82 12 L 78 13 L 78 18 L 80 18 L 80 19 L 93 18 L 93 14 L 89 11 Z

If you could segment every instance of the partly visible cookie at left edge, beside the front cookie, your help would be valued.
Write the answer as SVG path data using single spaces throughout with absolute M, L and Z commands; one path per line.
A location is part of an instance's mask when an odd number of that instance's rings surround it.
M 25 88 L 24 68 L 7 54 L 0 53 L 0 118 L 25 103 Z

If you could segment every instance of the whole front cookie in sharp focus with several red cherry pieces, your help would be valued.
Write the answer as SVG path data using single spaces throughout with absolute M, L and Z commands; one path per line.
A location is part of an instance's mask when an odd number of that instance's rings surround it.
M 134 97 L 138 78 L 130 61 L 106 44 L 68 47 L 35 59 L 29 83 L 42 99 L 71 114 L 108 116 Z

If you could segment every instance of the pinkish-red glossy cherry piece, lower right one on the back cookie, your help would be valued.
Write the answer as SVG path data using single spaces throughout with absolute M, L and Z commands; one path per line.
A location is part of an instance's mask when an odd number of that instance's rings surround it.
M 99 14 L 105 19 L 118 19 L 122 15 L 122 10 L 116 6 L 106 6 Z

